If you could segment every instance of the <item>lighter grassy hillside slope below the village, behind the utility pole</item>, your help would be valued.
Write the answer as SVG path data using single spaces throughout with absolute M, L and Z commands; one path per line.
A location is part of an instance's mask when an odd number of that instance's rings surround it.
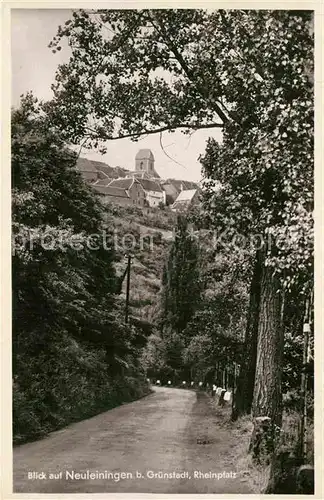
M 130 315 L 153 326 L 175 220 L 176 215 L 168 209 L 144 214 L 139 208 L 110 205 L 107 210 L 106 222 L 114 231 L 118 276 L 126 270 L 128 253 L 132 255 Z M 120 299 L 126 300 L 126 279 Z

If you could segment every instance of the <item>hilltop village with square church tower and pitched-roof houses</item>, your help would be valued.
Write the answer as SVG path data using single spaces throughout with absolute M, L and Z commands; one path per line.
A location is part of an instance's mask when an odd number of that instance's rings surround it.
M 136 205 L 186 211 L 199 203 L 199 186 L 195 182 L 161 179 L 155 169 L 150 149 L 140 149 L 135 156 L 135 170 L 111 167 L 103 162 L 79 158 L 77 169 L 83 179 L 101 196 L 104 203 Z

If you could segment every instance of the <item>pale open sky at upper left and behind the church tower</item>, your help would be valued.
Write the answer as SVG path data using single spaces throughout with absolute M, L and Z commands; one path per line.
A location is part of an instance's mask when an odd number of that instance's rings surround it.
M 30 90 L 40 99 L 51 99 L 51 84 L 57 66 L 69 59 L 69 48 L 63 46 L 53 54 L 48 44 L 55 36 L 60 24 L 71 17 L 70 9 L 12 9 L 11 59 L 12 59 L 12 105 L 18 106 L 21 94 Z M 178 178 L 199 181 L 201 165 L 198 161 L 204 153 L 208 137 L 221 139 L 219 129 L 198 130 L 189 136 L 180 131 L 163 133 L 143 138 L 138 142 L 120 139 L 107 142 L 107 153 L 84 150 L 81 156 L 104 161 L 111 166 L 135 168 L 135 155 L 139 149 L 148 148 L 154 154 L 155 168 L 162 178 Z

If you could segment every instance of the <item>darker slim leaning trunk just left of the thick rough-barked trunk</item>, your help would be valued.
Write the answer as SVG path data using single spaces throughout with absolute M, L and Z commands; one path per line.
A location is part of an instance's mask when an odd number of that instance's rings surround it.
M 244 356 L 237 380 L 235 402 L 232 410 L 233 420 L 236 420 L 245 413 L 250 413 L 252 409 L 258 343 L 261 274 L 262 254 L 260 250 L 258 250 L 255 256 L 250 286 L 250 303 L 244 339 Z

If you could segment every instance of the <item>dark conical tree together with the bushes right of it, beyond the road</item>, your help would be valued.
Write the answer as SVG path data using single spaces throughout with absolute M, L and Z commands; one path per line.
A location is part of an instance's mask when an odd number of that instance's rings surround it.
M 173 243 L 167 263 L 170 279 L 161 298 L 164 329 L 149 338 L 143 354 L 144 364 L 150 376 L 165 383 L 169 378 L 181 383 L 181 380 L 197 380 L 197 377 L 200 380 L 207 377 L 214 382 L 216 365 L 218 370 L 224 370 L 241 359 L 247 301 L 244 277 L 248 271 L 243 265 L 244 255 L 238 259 L 236 255 L 215 251 L 212 234 L 194 231 L 193 227 L 188 232 L 186 228 L 187 221 L 181 218 L 178 239 Z M 199 252 L 195 263 L 191 262 L 194 267 L 188 273 L 187 281 L 184 281 L 186 275 L 182 271 L 188 268 L 182 259 L 188 265 L 187 252 L 190 252 L 191 245 L 196 249 L 199 247 Z M 168 323 L 168 318 L 178 317 L 171 316 L 170 309 L 173 305 L 175 310 L 175 305 L 180 304 L 189 312 L 186 298 L 188 290 L 192 295 L 195 286 L 199 300 L 194 304 L 194 296 L 191 297 L 194 307 L 190 318 L 176 330 L 175 325 L 180 323 L 171 323 L 170 320 Z

